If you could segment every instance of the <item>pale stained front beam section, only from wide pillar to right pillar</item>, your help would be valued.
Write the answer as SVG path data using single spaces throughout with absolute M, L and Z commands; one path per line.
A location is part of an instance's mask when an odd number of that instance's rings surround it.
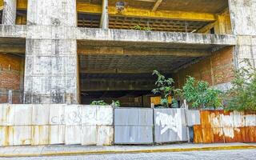
M 152 43 L 157 47 L 162 44 L 187 44 L 187 45 L 236 45 L 236 37 L 230 34 L 189 34 L 178 32 L 148 32 L 138 30 L 101 30 L 78 28 L 78 40 L 90 40 L 100 42 L 141 42 Z M 153 44 L 154 43 L 154 44 Z

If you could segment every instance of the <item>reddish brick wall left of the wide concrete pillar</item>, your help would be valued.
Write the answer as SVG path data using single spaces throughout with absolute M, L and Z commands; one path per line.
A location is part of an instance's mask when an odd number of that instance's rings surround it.
M 0 103 L 8 102 L 12 90 L 12 102 L 22 102 L 24 58 L 12 54 L 0 54 Z

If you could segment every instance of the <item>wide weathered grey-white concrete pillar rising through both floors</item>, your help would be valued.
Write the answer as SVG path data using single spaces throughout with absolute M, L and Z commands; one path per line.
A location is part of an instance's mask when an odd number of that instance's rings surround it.
M 28 0 L 27 24 L 25 103 L 78 103 L 76 1 Z

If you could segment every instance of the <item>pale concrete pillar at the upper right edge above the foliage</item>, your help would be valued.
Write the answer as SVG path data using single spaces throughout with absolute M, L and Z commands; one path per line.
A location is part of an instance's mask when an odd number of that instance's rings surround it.
M 242 60 L 249 58 L 252 65 L 256 62 L 256 1 L 229 0 L 230 18 L 233 33 L 238 35 L 235 46 L 236 66 L 242 66 Z

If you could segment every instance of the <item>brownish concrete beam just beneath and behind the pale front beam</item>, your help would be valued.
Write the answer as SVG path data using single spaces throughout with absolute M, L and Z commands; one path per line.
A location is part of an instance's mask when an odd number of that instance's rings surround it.
M 103 46 L 78 46 L 78 54 L 117 54 L 117 55 L 166 55 L 174 57 L 202 57 L 210 54 L 207 50 L 163 49 L 163 48 L 122 48 Z

